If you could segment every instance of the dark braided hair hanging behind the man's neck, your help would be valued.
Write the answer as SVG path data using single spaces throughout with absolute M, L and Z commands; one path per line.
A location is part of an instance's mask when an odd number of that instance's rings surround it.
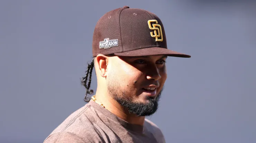
M 85 97 L 84 97 L 84 101 L 85 102 L 89 102 L 90 101 L 90 98 L 87 97 L 87 94 L 93 94 L 93 90 L 89 90 L 90 89 L 90 86 L 91 86 L 91 80 L 92 80 L 92 70 L 93 70 L 93 67 L 94 67 L 94 58 L 92 59 L 92 62 L 91 63 L 88 63 L 87 65 L 87 70 L 85 72 L 85 77 L 82 77 L 81 79 L 81 84 L 85 87 L 86 91 L 85 91 Z M 87 84 L 87 80 L 88 80 L 88 75 L 89 75 L 89 81 L 88 81 L 88 84 Z

